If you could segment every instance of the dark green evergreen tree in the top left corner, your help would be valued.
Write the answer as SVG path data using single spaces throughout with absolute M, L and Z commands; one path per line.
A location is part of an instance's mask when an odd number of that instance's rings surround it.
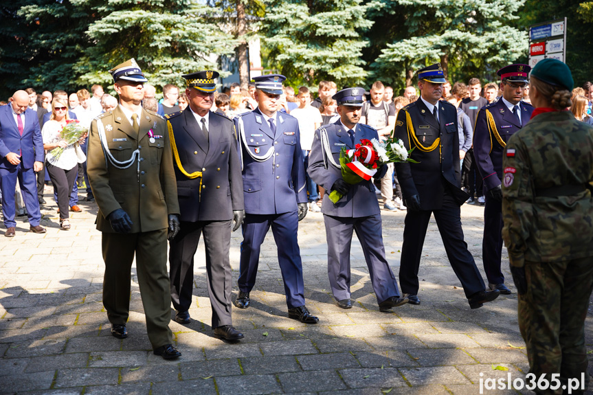
M 76 89 L 73 67 L 91 44 L 85 36 L 93 20 L 89 7 L 74 0 L 16 0 L 2 8 L 2 89 Z

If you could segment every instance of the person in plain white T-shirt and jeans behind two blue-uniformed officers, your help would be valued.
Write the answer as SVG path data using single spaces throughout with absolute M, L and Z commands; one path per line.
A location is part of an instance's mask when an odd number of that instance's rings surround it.
M 290 115 L 298 120 L 300 131 L 300 145 L 302 149 L 302 156 L 304 168 L 309 167 L 309 154 L 311 153 L 311 145 L 313 145 L 313 137 L 315 131 L 321 126 L 322 117 L 319 109 L 311 106 L 311 92 L 307 87 L 300 87 L 297 95 L 297 102 L 299 106 L 292 110 Z M 306 190 L 309 195 L 309 211 L 321 212 L 317 205 L 317 184 L 306 174 Z

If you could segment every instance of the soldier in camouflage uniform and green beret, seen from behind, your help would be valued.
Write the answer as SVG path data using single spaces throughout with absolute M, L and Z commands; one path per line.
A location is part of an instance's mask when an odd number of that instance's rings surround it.
M 570 111 L 573 80 L 558 60 L 531 72 L 532 119 L 508 141 L 502 236 L 519 293 L 530 372 L 588 381 L 584 325 L 593 290 L 593 128 Z M 586 384 L 585 384 L 586 388 Z M 566 393 L 566 391 L 565 391 Z M 572 392 L 573 394 L 582 393 Z

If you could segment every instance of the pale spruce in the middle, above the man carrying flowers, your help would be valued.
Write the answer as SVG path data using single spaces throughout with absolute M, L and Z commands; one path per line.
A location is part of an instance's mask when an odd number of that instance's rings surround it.
M 267 65 L 291 84 L 315 89 L 320 80 L 333 80 L 338 89 L 361 84 L 367 76 L 361 54 L 368 43 L 361 33 L 374 2 L 362 0 L 267 0 L 261 23 Z

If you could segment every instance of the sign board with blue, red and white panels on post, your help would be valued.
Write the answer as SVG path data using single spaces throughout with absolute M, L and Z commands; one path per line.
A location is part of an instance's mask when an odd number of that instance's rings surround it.
M 566 18 L 529 27 L 529 65 L 545 58 L 566 63 Z

